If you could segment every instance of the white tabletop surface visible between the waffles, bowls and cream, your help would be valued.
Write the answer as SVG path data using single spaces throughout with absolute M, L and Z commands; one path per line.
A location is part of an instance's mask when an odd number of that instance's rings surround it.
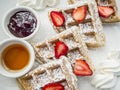
M 9 38 L 7 35 L 5 35 L 2 29 L 2 18 L 6 11 L 12 7 L 15 7 L 16 2 L 17 0 L 0 0 L 0 41 Z M 57 7 L 66 6 L 66 4 L 67 0 L 61 0 Z M 117 0 L 117 4 L 120 6 L 120 0 Z M 50 8 L 47 8 L 43 11 L 38 11 L 42 22 L 40 30 L 33 38 L 33 40 L 37 39 L 40 42 L 45 38 L 49 38 L 50 36 L 56 34 L 52 29 L 48 19 L 49 9 Z M 120 50 L 120 23 L 104 25 L 104 32 L 106 35 L 106 45 L 102 48 L 89 50 L 90 58 L 92 59 L 95 66 L 97 66 L 101 60 L 106 57 L 108 52 L 112 50 Z M 91 86 L 88 78 L 79 77 L 78 81 L 79 90 L 99 90 Z M 19 90 L 19 88 L 15 79 L 6 78 L 0 75 L 0 90 Z M 120 78 L 118 78 L 116 86 L 110 90 L 120 90 Z

